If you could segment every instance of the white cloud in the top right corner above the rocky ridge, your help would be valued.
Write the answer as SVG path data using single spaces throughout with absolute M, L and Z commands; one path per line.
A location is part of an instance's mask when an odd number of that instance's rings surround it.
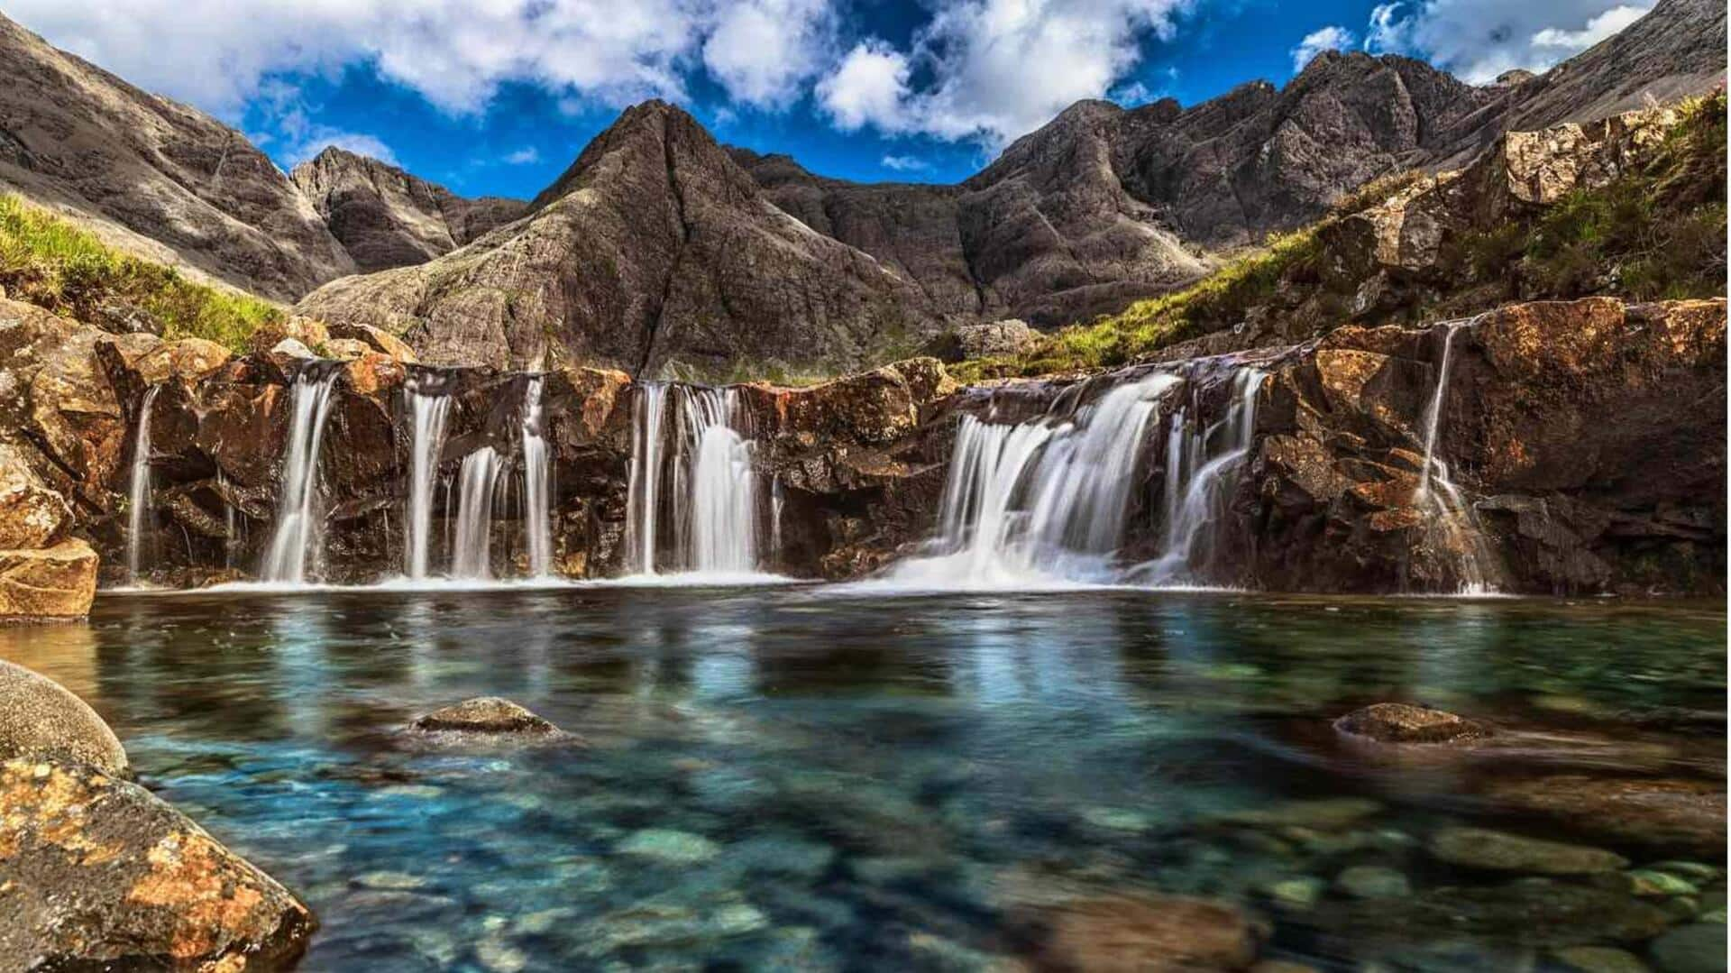
M 1482 85 L 1523 68 L 1546 71 L 1632 24 L 1650 2 L 1414 0 L 1376 7 L 1364 48 L 1426 57 Z

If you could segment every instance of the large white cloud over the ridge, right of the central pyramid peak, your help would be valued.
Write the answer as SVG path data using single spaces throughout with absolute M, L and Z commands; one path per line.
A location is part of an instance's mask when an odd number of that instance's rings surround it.
M 841 128 L 1002 145 L 1097 99 L 1170 38 L 1189 0 L 954 0 L 907 50 L 864 42 L 819 85 Z M 912 78 L 921 83 L 911 85 Z

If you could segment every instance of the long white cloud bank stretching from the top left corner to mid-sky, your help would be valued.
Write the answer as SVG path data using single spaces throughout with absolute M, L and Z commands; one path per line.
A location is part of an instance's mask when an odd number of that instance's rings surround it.
M 523 81 L 590 104 L 685 99 L 706 69 L 779 104 L 829 43 L 827 0 L 10 0 L 7 14 L 126 80 L 235 118 L 277 74 L 370 64 L 450 113 Z

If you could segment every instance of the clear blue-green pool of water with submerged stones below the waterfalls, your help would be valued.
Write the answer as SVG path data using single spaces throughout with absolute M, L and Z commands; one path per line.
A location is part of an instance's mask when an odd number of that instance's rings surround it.
M 1539 954 L 1390 944 L 1338 893 L 1272 890 L 1350 864 L 1414 895 L 1506 881 L 1419 848 L 1459 822 L 1556 836 L 1477 800 L 1492 776 L 1722 781 L 1724 627 L 1522 599 L 220 592 L 104 596 L 88 625 L 0 630 L 0 656 L 88 699 L 149 786 L 319 911 L 308 970 L 987 970 L 1030 904 L 1120 892 L 1238 902 L 1265 956 L 1319 968 L 1485 968 Z M 400 732 L 478 694 L 589 746 Z M 1378 699 L 1573 748 L 1374 762 L 1328 722 Z M 1227 821 L 1340 796 L 1380 810 Z

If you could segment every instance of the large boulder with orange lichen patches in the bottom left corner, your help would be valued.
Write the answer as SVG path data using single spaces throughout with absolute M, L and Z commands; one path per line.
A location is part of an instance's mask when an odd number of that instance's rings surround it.
M 286 970 L 312 912 L 144 788 L 0 764 L 0 968 Z

